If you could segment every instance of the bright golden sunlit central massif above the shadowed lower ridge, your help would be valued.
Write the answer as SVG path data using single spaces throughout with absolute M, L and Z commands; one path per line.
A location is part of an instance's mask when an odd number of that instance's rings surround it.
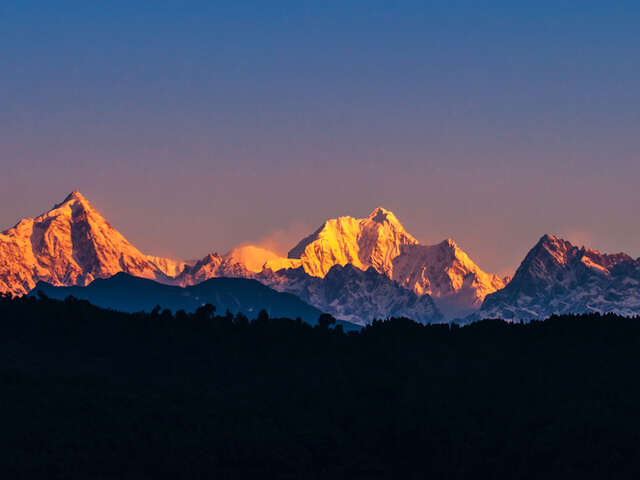
M 507 279 L 482 271 L 452 239 L 422 245 L 396 216 L 378 207 L 366 218 L 327 220 L 288 254 L 309 275 L 323 277 L 334 265 L 374 268 L 418 295 L 431 295 L 453 318 L 476 310 Z

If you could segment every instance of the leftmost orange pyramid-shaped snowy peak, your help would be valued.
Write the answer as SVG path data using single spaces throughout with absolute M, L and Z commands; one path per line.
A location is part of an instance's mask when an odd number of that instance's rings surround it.
M 50 211 L 0 234 L 2 291 L 23 294 L 38 281 L 86 285 L 121 271 L 166 278 L 77 190 Z

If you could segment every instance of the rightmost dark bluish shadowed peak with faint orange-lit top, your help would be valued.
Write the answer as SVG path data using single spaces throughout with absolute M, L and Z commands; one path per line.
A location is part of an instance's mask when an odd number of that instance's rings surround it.
M 509 285 L 485 298 L 478 316 L 527 320 L 584 312 L 639 315 L 640 260 L 545 235 Z

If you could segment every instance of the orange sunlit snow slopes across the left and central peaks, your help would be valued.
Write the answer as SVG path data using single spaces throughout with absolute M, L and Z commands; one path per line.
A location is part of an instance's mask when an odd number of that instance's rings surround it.
M 0 290 L 17 295 L 38 281 L 87 285 L 119 272 L 185 286 L 213 277 L 259 278 L 261 272 L 300 267 L 323 278 L 332 267 L 347 264 L 373 268 L 417 295 L 433 296 L 445 315 L 479 308 L 486 295 L 505 284 L 483 272 L 453 240 L 420 244 L 382 207 L 365 218 L 327 220 L 288 258 L 255 245 L 222 256 L 211 253 L 192 263 L 145 255 L 78 191 L 51 211 L 0 234 Z

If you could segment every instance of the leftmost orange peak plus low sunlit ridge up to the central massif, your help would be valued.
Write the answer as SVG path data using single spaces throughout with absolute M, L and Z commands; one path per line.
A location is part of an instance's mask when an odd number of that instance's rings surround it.
M 0 292 L 14 295 L 24 295 L 39 281 L 82 286 L 119 272 L 187 286 L 215 277 L 250 278 L 264 265 L 297 266 L 252 246 L 224 256 L 212 253 L 197 262 L 145 255 L 78 191 L 50 211 L 0 233 Z

